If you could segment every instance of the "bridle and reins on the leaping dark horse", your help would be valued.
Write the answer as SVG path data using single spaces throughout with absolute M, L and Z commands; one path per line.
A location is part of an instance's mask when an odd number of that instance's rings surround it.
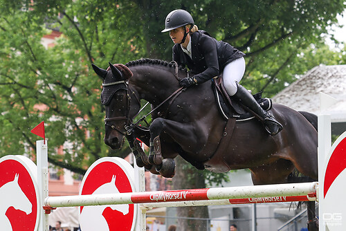
M 172 61 L 174 62 L 174 61 Z M 174 70 L 174 77 L 176 77 L 176 80 L 181 80 L 178 77 L 178 64 L 176 64 L 176 62 L 174 62 L 174 66 L 175 66 L 175 70 Z M 161 105 L 163 105 L 165 102 L 167 102 L 168 100 L 170 100 L 170 104 L 168 105 L 168 108 L 170 107 L 170 105 L 172 104 L 172 102 L 176 99 L 176 97 L 178 97 L 178 95 L 182 92 L 185 91 L 184 87 L 180 87 L 179 89 L 177 89 L 176 91 L 174 91 L 174 93 L 172 93 L 170 96 L 168 96 L 168 98 L 166 98 L 165 100 L 163 100 L 163 102 L 161 102 L 160 104 L 158 104 L 158 106 L 156 106 L 154 109 L 152 109 L 152 111 L 150 111 L 149 113 L 147 113 L 146 115 L 143 115 L 142 118 L 140 118 L 139 120 L 137 120 L 135 123 L 133 122 L 134 119 L 130 119 L 129 118 L 129 113 L 130 113 L 130 104 L 131 104 L 131 97 L 129 95 L 129 90 L 131 90 L 131 87 L 129 86 L 129 83 L 126 82 L 125 80 L 122 81 L 116 81 L 116 82 L 111 82 L 111 83 L 107 83 L 107 84 L 102 84 L 102 86 L 112 86 L 112 85 L 118 85 L 118 84 L 125 84 L 125 88 L 120 88 L 120 89 L 125 89 L 126 91 L 126 98 L 127 98 L 127 105 L 126 105 L 126 113 L 125 116 L 117 116 L 117 117 L 112 117 L 112 118 L 105 118 L 104 119 L 104 125 L 111 127 L 111 129 L 118 131 L 120 134 L 122 134 L 122 136 L 130 136 L 131 133 L 134 131 L 134 127 L 138 126 L 138 124 L 140 122 L 143 122 L 143 120 L 147 123 L 147 121 L 145 120 L 147 118 L 148 115 L 150 115 L 151 113 L 153 113 L 154 111 L 156 111 L 159 107 L 161 107 Z M 116 91 L 119 91 L 120 89 L 117 89 Z M 138 96 L 136 95 L 136 93 L 134 91 L 131 90 L 131 93 L 135 96 L 137 102 L 140 104 L 140 99 L 138 98 Z M 113 97 L 113 96 L 112 96 Z M 145 104 L 139 111 L 138 113 L 136 113 L 136 115 L 134 115 L 134 118 L 136 118 L 140 112 L 143 111 L 143 109 L 145 109 L 145 107 L 147 107 L 147 105 L 149 104 L 149 102 L 147 102 L 147 104 Z M 119 128 L 117 128 L 115 125 L 113 124 L 109 124 L 109 122 L 112 121 L 118 121 L 118 120 L 125 120 L 125 126 L 124 126 L 124 130 L 121 131 Z M 147 123 L 148 124 L 148 123 Z M 149 125 L 149 124 L 148 124 Z

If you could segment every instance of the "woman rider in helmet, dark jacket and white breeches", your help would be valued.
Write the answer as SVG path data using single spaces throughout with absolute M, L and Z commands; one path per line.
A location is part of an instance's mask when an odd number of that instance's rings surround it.
M 167 31 L 174 42 L 173 60 L 179 65 L 187 65 L 192 73 L 197 73 L 181 80 L 181 86 L 201 84 L 222 71 L 228 95 L 234 95 L 248 109 L 259 115 L 266 131 L 271 135 L 282 130 L 280 122 L 277 122 L 271 113 L 264 111 L 253 95 L 238 83 L 245 72 L 245 54 L 242 51 L 224 41 L 217 41 L 203 30 L 198 30 L 194 19 L 185 10 L 173 10 L 167 15 L 162 32 Z

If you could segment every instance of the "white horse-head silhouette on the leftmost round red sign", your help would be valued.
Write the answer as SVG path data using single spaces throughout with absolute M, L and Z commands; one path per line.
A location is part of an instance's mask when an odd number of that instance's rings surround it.
M 10 181 L 0 187 L 0 224 L 1 230 L 12 230 L 10 220 L 6 216 L 9 207 L 21 210 L 27 215 L 33 212 L 33 204 L 29 201 L 26 194 L 21 190 L 18 183 L 19 174 L 15 174 L 13 181 Z

